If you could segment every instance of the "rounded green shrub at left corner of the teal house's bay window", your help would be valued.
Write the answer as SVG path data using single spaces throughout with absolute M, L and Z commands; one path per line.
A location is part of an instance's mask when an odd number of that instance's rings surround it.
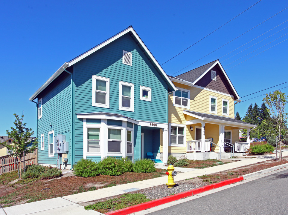
M 81 159 L 73 165 L 74 175 L 80 177 L 92 177 L 100 174 L 98 164 L 92 159 Z

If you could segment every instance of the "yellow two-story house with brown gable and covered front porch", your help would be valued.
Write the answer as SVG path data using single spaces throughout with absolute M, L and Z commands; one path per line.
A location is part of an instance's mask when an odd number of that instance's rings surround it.
M 219 60 L 170 79 L 178 90 L 168 99 L 168 154 L 202 160 L 246 151 L 249 142 L 239 142 L 239 130 L 247 129 L 249 140 L 256 126 L 234 119 L 240 97 Z

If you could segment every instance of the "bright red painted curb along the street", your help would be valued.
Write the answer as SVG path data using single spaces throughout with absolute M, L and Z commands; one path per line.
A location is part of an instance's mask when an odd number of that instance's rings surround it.
M 209 190 L 212 190 L 212 189 L 215 189 L 215 188 L 219 188 L 219 187 L 222 187 L 222 186 L 225 186 L 225 185 L 233 184 L 235 182 L 239 182 L 239 181 L 242 181 L 242 180 L 244 180 L 243 176 L 240 176 L 240 177 L 237 177 L 237 178 L 228 179 L 228 180 L 225 180 L 225 181 L 222 181 L 222 182 L 218 182 L 218 183 L 215 183 L 215 184 L 206 185 L 204 187 L 196 188 L 196 189 L 193 189 L 193 190 L 190 190 L 190 191 L 177 193 L 177 194 L 174 194 L 172 196 L 166 196 L 166 197 L 163 197 L 163 198 L 160 198 L 160 199 L 154 199 L 154 200 L 152 200 L 150 202 L 144 202 L 144 203 L 141 203 L 139 205 L 133 205 L 133 206 L 130 206 L 130 207 L 127 207 L 127 208 L 119 209 L 119 210 L 116 210 L 116 211 L 111 211 L 111 212 L 108 212 L 106 214 L 107 215 L 114 215 L 114 214 L 127 215 L 127 214 L 131 214 L 131 213 L 134 213 L 134 212 L 143 211 L 143 210 L 148 209 L 148 208 L 153 208 L 153 207 L 156 207 L 158 205 L 163 205 L 163 204 L 168 203 L 168 202 L 173 202 L 173 201 L 178 200 L 178 199 L 186 198 L 188 196 L 193 196 L 193 195 L 196 195 L 198 193 L 203 193 L 205 191 L 209 191 Z

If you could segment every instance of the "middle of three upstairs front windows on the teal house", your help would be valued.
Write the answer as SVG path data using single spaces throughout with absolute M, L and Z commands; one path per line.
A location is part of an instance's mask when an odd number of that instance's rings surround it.
M 134 111 L 134 84 L 119 81 L 119 110 Z

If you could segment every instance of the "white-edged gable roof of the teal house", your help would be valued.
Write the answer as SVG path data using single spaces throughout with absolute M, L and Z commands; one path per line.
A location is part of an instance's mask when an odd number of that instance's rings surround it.
M 115 41 L 116 39 L 118 39 L 119 37 L 123 36 L 124 34 L 129 33 L 131 38 L 134 39 L 136 41 L 136 44 L 138 44 L 138 46 L 141 48 L 141 50 L 144 52 L 144 54 L 147 56 L 147 58 L 150 60 L 150 62 L 153 64 L 153 66 L 155 67 L 156 70 L 159 71 L 159 73 L 161 73 L 161 76 L 163 77 L 163 79 L 166 80 L 167 85 L 169 86 L 169 90 L 171 91 L 175 91 L 177 90 L 177 88 L 174 86 L 174 84 L 172 83 L 172 81 L 168 78 L 167 74 L 164 72 L 164 70 L 162 69 L 162 67 L 160 66 L 160 64 L 157 62 L 157 60 L 154 58 L 154 56 L 152 55 L 152 53 L 149 51 L 149 49 L 146 47 L 146 45 L 144 44 L 144 42 L 140 39 L 140 37 L 138 36 L 138 34 L 135 32 L 135 30 L 133 29 L 132 26 L 129 26 L 128 28 L 126 28 L 125 30 L 119 32 L 118 34 L 110 37 L 109 39 L 105 40 L 104 42 L 96 45 L 95 47 L 93 47 L 92 49 L 84 52 L 83 54 L 77 56 L 76 58 L 70 60 L 69 62 L 64 63 L 31 97 L 30 97 L 30 101 L 34 100 L 39 93 L 42 92 L 42 90 L 44 90 L 52 81 L 54 81 L 63 71 L 64 69 L 72 66 L 73 64 L 77 63 L 78 61 L 84 59 L 85 57 L 91 55 L 92 53 L 96 52 L 97 50 L 99 50 L 100 48 L 108 45 L 109 43 Z

